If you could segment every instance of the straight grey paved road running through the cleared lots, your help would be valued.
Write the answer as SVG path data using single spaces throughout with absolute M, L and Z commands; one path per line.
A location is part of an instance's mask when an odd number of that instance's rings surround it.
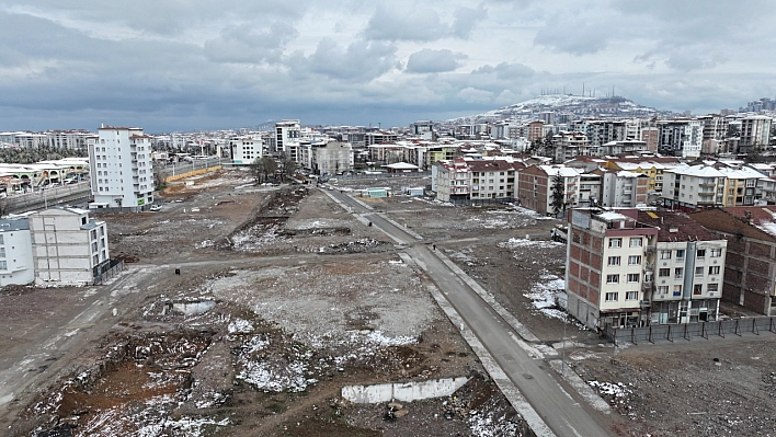
M 411 245 L 407 252 L 425 267 L 445 298 L 466 321 L 478 340 L 490 352 L 504 373 L 517 387 L 557 436 L 607 436 L 596 417 L 564 390 L 555 371 L 543 359 L 533 359 L 517 344 L 514 330 L 503 321 L 467 284 L 445 265 L 425 244 L 383 215 L 365 208 L 343 193 L 330 193 L 355 214 L 362 214 L 397 242 Z M 593 413 L 594 414 L 594 413 Z

